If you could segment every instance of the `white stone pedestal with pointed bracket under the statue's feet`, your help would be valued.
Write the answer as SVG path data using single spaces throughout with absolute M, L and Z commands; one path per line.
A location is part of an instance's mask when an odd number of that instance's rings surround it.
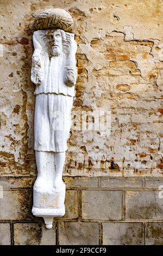
M 45 183 L 46 185 L 46 183 Z M 34 186 L 34 205 L 32 214 L 43 217 L 46 228 L 52 228 L 53 217 L 65 215 L 65 184 L 62 182 L 60 190 L 52 187 Z

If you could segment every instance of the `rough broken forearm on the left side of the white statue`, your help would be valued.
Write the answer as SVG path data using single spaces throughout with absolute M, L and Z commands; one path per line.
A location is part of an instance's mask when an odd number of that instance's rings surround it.
M 36 84 L 36 86 L 39 86 L 43 80 L 41 62 L 37 56 L 33 56 L 32 58 L 32 69 L 30 79 L 34 84 Z

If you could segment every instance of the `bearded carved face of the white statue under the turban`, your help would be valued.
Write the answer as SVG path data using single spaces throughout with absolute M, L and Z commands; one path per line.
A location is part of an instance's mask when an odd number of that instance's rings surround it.
M 48 32 L 50 52 L 52 56 L 59 56 L 62 52 L 62 36 L 60 31 L 50 30 Z

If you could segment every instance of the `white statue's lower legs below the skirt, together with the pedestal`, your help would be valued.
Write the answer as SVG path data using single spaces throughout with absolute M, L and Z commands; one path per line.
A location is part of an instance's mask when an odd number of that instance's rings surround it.
M 36 150 L 35 156 L 37 179 L 34 184 L 32 212 L 35 216 L 42 216 L 46 227 L 51 228 L 53 217 L 65 214 L 65 184 L 62 181 L 65 152 Z

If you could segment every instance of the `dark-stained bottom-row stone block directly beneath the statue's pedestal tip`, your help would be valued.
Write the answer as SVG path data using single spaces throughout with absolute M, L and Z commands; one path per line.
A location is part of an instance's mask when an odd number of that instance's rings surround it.
M 55 223 L 46 229 L 43 223 L 15 223 L 14 245 L 55 245 Z

